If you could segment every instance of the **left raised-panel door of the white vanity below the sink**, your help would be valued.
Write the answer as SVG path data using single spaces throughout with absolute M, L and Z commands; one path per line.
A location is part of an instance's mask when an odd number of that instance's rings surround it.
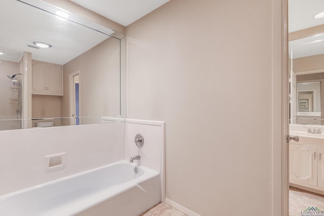
M 317 186 L 317 147 L 290 144 L 289 148 L 290 182 Z

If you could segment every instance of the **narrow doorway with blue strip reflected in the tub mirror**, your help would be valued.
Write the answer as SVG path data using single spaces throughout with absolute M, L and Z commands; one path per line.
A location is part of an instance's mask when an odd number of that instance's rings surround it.
M 80 124 L 80 74 L 70 74 L 70 116 L 71 125 Z

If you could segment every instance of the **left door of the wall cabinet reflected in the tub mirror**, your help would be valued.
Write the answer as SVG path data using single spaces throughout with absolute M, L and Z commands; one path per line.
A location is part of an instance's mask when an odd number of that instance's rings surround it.
M 32 94 L 46 94 L 46 64 L 32 63 Z

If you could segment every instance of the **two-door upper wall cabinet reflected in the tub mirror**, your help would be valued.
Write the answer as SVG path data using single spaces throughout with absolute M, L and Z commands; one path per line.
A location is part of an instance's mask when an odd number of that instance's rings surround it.
M 32 62 L 32 94 L 63 95 L 63 70 L 61 65 Z

